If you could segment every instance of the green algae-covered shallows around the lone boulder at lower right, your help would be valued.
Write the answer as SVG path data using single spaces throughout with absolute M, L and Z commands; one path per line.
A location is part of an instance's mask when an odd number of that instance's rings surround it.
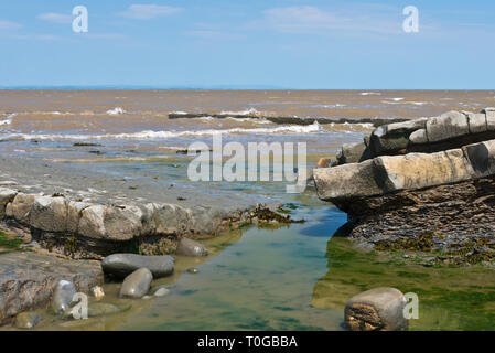
M 345 238 L 327 244 L 327 274 L 313 289 L 313 306 L 343 310 L 354 295 L 395 287 L 419 297 L 419 319 L 410 330 L 494 330 L 495 270 L 487 266 L 424 267 L 416 255 L 363 252 Z

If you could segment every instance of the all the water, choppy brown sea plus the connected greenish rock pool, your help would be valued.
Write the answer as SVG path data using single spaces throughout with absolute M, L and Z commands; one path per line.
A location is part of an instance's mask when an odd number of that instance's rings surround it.
M 495 106 L 495 90 L 0 90 L 0 154 L 63 163 L 140 180 L 173 181 L 215 193 L 262 195 L 289 203 L 306 223 L 245 228 L 203 239 L 204 259 L 176 259 L 176 274 L 158 280 L 171 292 L 150 300 L 117 298 L 126 312 L 87 321 L 50 314 L 40 330 L 342 330 L 345 301 L 377 286 L 415 291 L 419 330 L 495 328 L 495 271 L 486 267 L 426 268 L 396 257 L 363 254 L 331 238 L 346 215 L 320 202 L 314 190 L 287 194 L 284 182 L 200 182 L 187 179 L 192 142 L 306 142 L 308 167 L 363 139 L 370 124 L 280 125 L 263 117 L 419 118 L 451 109 Z M 203 118 L 168 119 L 170 113 Z M 235 117 L 216 119 L 207 114 Z M 246 118 L 243 118 L 243 115 Z M 247 118 L 250 117 L 250 118 Z M 256 118 L 252 118 L 256 117 Z M 225 202 L 229 202 L 225 200 Z M 197 267 L 198 274 L 185 271 Z

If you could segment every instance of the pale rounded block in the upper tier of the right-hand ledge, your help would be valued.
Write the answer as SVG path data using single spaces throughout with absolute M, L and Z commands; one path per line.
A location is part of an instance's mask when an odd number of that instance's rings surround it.
M 440 142 L 470 133 L 467 117 L 460 111 L 449 111 L 427 120 L 429 142 Z

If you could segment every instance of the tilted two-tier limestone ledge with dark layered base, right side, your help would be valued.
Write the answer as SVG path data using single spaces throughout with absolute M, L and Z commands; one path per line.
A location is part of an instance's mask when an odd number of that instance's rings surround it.
M 494 119 L 486 108 L 377 128 L 374 153 L 313 171 L 318 195 L 348 214 L 347 233 L 365 247 L 432 252 L 449 263 L 495 259 L 495 139 L 480 141 Z M 392 156 L 377 156 L 377 146 Z M 411 152 L 418 146 L 424 151 Z

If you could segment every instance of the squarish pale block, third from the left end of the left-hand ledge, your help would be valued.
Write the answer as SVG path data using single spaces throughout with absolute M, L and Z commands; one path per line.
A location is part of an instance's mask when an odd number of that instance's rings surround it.
M 37 196 L 31 208 L 30 225 L 45 232 L 65 232 L 67 204 L 64 197 Z

